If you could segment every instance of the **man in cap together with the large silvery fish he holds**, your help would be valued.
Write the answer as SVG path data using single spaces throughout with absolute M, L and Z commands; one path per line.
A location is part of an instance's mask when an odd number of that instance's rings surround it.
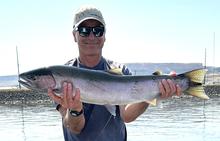
M 126 141 L 125 123 L 143 114 L 154 99 L 181 92 L 209 99 L 203 88 L 207 71 L 203 68 L 178 75 L 135 76 L 125 65 L 105 59 L 106 24 L 95 7 L 77 11 L 72 33 L 78 58 L 19 75 L 23 86 L 55 101 L 65 141 Z

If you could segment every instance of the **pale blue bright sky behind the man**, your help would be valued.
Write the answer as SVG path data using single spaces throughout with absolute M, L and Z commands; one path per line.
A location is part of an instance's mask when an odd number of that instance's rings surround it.
M 21 72 L 77 57 L 72 23 L 83 4 L 103 13 L 106 58 L 121 63 L 204 63 L 206 48 L 207 65 L 220 66 L 218 0 L 2 0 L 0 75 L 17 73 L 16 46 Z

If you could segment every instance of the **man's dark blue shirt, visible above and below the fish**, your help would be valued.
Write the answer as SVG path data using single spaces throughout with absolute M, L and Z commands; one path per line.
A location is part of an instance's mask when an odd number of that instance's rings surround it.
M 99 64 L 93 68 L 88 68 L 79 63 L 78 59 L 73 59 L 66 65 L 77 66 L 93 70 L 108 70 L 112 67 L 122 68 L 124 75 L 131 72 L 125 65 L 117 64 L 113 61 L 102 58 Z M 103 105 L 83 103 L 85 126 L 80 134 L 72 133 L 63 126 L 65 141 L 126 141 L 127 131 L 124 121 L 121 119 L 119 106 L 116 106 L 116 116 Z

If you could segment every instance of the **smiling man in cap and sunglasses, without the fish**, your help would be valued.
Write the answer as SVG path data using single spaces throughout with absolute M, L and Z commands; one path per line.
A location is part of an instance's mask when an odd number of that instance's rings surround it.
M 90 6 L 81 7 L 75 14 L 73 37 L 78 44 L 79 57 L 69 61 L 72 65 L 87 69 L 108 70 L 121 68 L 124 75 L 129 69 L 107 60 L 102 56 L 106 25 L 101 12 Z M 168 98 L 180 94 L 180 87 L 171 80 L 159 84 L 161 97 Z M 63 119 L 63 133 L 66 141 L 125 141 L 125 122 L 132 122 L 148 107 L 147 102 L 115 106 L 116 115 L 109 112 L 106 105 L 94 105 L 80 101 L 80 90 L 74 84 L 64 82 L 63 94 L 57 96 L 51 89 L 48 95 L 58 103 L 57 110 Z

